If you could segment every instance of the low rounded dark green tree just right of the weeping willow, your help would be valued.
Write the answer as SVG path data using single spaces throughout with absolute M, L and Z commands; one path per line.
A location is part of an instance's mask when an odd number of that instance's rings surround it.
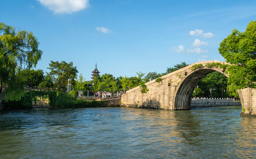
M 41 83 L 43 81 L 43 70 L 24 69 L 21 72 L 24 76 L 26 85 L 29 87 L 38 86 L 39 83 Z

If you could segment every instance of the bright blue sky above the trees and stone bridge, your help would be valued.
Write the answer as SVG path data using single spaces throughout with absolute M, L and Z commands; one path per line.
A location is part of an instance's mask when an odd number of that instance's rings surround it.
M 0 22 L 32 31 L 50 61 L 100 74 L 165 72 L 186 62 L 218 60 L 220 42 L 256 20 L 255 0 L 2 0 Z

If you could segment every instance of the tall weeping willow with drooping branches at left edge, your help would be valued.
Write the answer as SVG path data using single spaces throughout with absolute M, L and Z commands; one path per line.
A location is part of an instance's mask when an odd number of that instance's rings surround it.
M 7 100 L 19 100 L 24 95 L 24 80 L 20 71 L 35 67 L 42 51 L 32 32 L 16 31 L 0 23 L 0 94 L 6 86 Z

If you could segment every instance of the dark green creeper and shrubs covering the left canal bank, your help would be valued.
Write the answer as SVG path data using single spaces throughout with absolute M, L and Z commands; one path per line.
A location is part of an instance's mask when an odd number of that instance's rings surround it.
M 29 91 L 20 101 L 6 101 L 3 109 L 31 109 L 32 101 L 37 98 L 47 98 L 52 108 L 87 108 L 106 106 L 104 101 L 84 101 L 60 91 Z

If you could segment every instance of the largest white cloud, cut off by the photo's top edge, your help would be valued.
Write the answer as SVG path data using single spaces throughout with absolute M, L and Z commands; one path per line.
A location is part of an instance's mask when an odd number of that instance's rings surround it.
M 89 0 L 38 0 L 54 13 L 68 13 L 80 11 L 89 6 Z

